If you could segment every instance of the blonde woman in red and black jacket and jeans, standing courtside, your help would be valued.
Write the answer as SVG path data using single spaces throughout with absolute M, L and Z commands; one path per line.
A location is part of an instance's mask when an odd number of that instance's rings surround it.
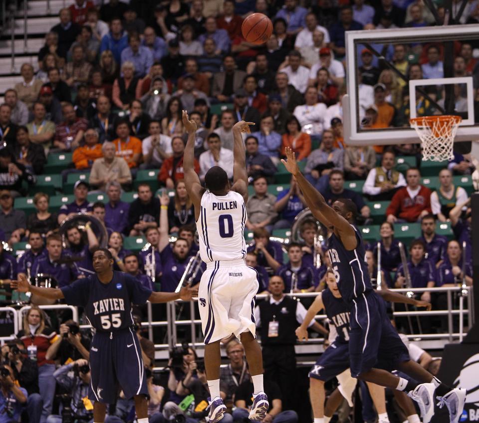
M 25 346 L 28 358 L 35 361 L 38 366 L 38 388 L 43 400 L 40 422 L 45 422 L 51 414 L 55 397 L 56 382 L 53 377 L 55 348 L 52 345 L 58 339 L 58 335 L 46 325 L 42 310 L 32 305 L 23 316 L 23 329 L 16 336 Z

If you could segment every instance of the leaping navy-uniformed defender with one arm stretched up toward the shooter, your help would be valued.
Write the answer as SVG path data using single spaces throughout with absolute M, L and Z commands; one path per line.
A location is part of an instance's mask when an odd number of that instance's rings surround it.
M 296 178 L 314 217 L 327 227 L 332 227 L 328 254 L 339 292 L 350 311 L 351 375 L 377 385 L 409 392 L 409 396 L 421 409 L 423 423 L 429 423 L 434 415 L 436 398 L 441 406 L 448 407 L 451 422 L 459 422 L 466 401 L 466 390 L 445 386 L 409 358 L 406 347 L 386 314 L 384 302 L 373 292 L 363 240 L 352 224 L 357 214 L 355 204 L 340 199 L 329 207 L 324 197 L 299 172 L 290 148 L 286 148 L 286 157 L 287 161 L 281 161 Z M 394 369 L 414 375 L 422 383 L 418 385 L 394 376 L 391 373 Z

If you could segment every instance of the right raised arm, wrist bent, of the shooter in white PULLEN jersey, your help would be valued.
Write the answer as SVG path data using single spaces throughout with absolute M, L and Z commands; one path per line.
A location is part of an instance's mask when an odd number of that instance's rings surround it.
M 251 133 L 249 125 L 253 122 L 241 120 L 233 126 L 233 187 L 232 190 L 240 194 L 244 203 L 248 201 L 248 173 L 246 171 L 246 151 L 244 149 L 242 132 Z

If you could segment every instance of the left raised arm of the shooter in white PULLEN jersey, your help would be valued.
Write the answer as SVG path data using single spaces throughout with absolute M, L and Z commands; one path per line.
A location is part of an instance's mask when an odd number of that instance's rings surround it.
M 205 189 L 201 186 L 200 178 L 195 172 L 195 138 L 196 122 L 189 120 L 186 110 L 182 111 L 183 126 L 188 132 L 188 141 L 183 154 L 183 169 L 185 176 L 185 185 L 188 195 L 195 206 L 195 220 L 200 217 L 201 197 Z

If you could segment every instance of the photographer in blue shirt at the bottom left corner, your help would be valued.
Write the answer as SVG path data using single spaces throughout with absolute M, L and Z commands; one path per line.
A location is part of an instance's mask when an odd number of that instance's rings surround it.
M 0 367 L 0 423 L 20 422 L 28 394 L 18 386 L 10 366 Z

